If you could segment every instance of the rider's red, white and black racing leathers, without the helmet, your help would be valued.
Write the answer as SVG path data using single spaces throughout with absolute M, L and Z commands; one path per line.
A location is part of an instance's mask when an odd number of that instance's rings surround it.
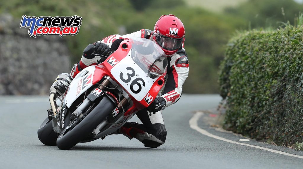
M 98 50 L 103 54 L 108 52 L 108 48 L 109 51 L 115 51 L 118 49 L 120 43 L 129 37 L 141 37 L 152 40 L 152 31 L 142 29 L 123 36 L 118 34 L 110 35 L 98 42 L 95 42 L 94 44 L 88 45 L 83 52 L 81 61 L 74 65 L 71 73 L 65 81 L 69 84 L 70 81 L 72 81 L 72 79 L 84 68 L 91 65 L 97 65 L 104 61 L 104 59 L 100 56 L 94 56 L 94 51 L 96 49 L 93 48 L 98 48 Z M 97 44 L 99 44 L 99 46 L 96 47 Z M 106 52 L 104 53 L 104 51 Z M 165 84 L 155 99 L 158 101 L 158 104 L 161 105 L 159 105 L 159 110 L 153 111 L 154 114 L 148 112 L 150 109 L 138 111 L 136 114 L 143 124 L 127 122 L 116 133 L 121 133 L 127 136 L 129 139 L 135 137 L 144 143 L 145 147 L 156 148 L 165 142 L 166 129 L 161 110 L 170 106 L 171 104 L 176 103 L 180 99 L 182 85 L 188 76 L 189 64 L 188 57 L 185 53 L 184 44 L 180 46 L 180 49 L 175 54 L 167 56 L 167 59 L 168 69 L 167 76 L 165 77 Z

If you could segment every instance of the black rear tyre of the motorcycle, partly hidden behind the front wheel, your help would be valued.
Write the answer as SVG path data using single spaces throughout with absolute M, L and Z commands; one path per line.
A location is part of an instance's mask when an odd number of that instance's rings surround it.
M 52 120 L 46 118 L 38 128 L 38 138 L 45 145 L 56 145 L 58 135 L 53 130 Z

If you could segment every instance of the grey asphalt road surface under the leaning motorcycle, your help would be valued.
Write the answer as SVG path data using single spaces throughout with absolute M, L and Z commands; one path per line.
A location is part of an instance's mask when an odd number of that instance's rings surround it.
M 238 145 L 202 135 L 191 129 L 193 112 L 215 108 L 218 95 L 187 95 L 163 111 L 168 136 L 159 148 L 145 148 L 122 135 L 79 143 L 71 150 L 45 146 L 37 129 L 46 117 L 47 97 L 0 97 L 0 168 L 303 168 L 303 159 Z M 243 138 L 212 128 L 205 113 L 198 126 L 238 141 Z M 135 117 L 132 121 L 138 122 Z M 290 154 L 303 151 L 256 141 L 245 142 Z

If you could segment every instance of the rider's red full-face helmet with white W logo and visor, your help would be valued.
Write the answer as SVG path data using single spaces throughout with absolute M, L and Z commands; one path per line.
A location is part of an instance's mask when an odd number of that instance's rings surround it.
M 162 15 L 155 24 L 153 40 L 163 49 L 166 56 L 172 56 L 184 41 L 184 25 L 175 15 Z

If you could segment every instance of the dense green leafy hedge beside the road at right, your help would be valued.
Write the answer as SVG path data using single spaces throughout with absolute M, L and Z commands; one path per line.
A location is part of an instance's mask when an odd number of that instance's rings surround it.
M 303 26 L 238 33 L 219 76 L 225 128 L 278 145 L 303 142 Z

